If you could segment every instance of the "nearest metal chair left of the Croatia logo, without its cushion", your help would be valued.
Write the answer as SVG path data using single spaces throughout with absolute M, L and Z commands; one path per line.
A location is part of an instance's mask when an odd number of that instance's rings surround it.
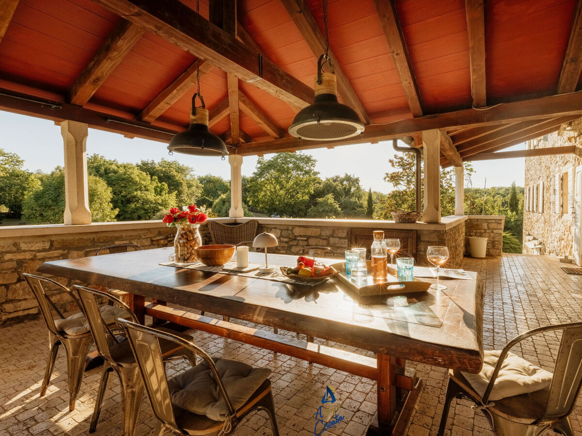
M 260 387 L 255 389 L 242 406 L 235 409 L 214 360 L 202 349 L 198 348 L 193 341 L 186 341 L 175 335 L 140 326 L 130 321 L 119 320 L 118 322 L 119 326 L 125 330 L 127 338 L 129 338 L 145 383 L 145 391 L 150 400 L 152 412 L 158 419 L 158 425 L 154 433 L 156 436 L 168 435 L 170 432 L 175 434 L 230 435 L 236 430 L 240 421 L 255 410 L 267 412 L 271 420 L 274 436 L 279 435 L 275 420 L 271 382 L 268 378 Z M 190 349 L 204 359 L 204 362 L 212 372 L 215 387 L 210 388 L 205 385 L 201 389 L 211 389 L 219 393 L 219 398 L 223 399 L 227 409 L 224 420 L 211 419 L 205 414 L 191 412 L 172 402 L 171 391 L 162 365 L 162 354 L 159 346 L 162 341 L 172 341 L 176 345 Z M 193 395 L 195 394 L 193 393 Z

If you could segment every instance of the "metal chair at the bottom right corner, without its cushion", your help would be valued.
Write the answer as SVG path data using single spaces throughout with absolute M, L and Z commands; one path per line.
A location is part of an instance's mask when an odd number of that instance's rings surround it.
M 489 395 L 507 353 L 523 339 L 549 331 L 562 331 L 562 341 L 556 357 L 549 387 L 489 402 Z M 445 408 L 438 435 L 445 431 L 450 402 L 464 397 L 477 404 L 494 428 L 497 436 L 537 436 L 551 428 L 556 433 L 573 436 L 569 415 L 572 412 L 582 384 L 582 323 L 557 324 L 527 331 L 508 342 L 499 355 L 487 389 L 481 397 L 459 371 L 449 370 Z

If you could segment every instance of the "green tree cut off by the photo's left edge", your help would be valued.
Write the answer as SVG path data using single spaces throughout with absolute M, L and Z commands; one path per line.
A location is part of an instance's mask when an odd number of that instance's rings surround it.
M 22 214 L 24 191 L 33 175 L 23 169 L 24 160 L 0 148 L 0 205 L 17 216 Z

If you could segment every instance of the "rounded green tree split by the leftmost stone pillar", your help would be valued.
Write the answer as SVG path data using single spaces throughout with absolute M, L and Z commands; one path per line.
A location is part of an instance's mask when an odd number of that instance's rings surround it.
M 88 176 L 89 209 L 91 221 L 115 221 L 118 209 L 113 209 L 111 188 L 105 180 Z M 37 174 L 26 190 L 23 219 L 31 224 L 59 224 L 65 213 L 65 170 L 56 167 L 50 174 Z

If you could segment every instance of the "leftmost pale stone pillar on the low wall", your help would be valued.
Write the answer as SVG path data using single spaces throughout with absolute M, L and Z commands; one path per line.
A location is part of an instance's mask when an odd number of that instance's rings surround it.
M 91 224 L 87 188 L 87 135 L 85 123 L 61 123 L 65 150 L 65 224 Z

